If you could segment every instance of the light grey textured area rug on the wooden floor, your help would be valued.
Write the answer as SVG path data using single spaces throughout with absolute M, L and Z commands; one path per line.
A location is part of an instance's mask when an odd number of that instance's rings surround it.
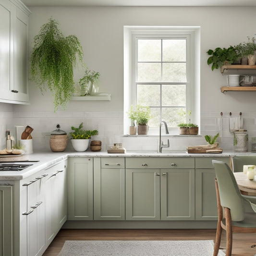
M 66 241 L 58 256 L 212 256 L 213 246 L 213 240 Z

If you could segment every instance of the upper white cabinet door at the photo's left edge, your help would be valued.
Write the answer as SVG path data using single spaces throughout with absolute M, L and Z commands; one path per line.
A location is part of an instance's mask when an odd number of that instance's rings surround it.
M 9 0 L 0 2 L 0 99 L 13 99 L 13 24 L 15 7 Z

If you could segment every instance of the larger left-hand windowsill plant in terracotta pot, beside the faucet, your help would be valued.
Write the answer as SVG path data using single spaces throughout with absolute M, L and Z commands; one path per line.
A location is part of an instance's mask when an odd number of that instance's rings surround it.
M 150 108 L 137 105 L 135 113 L 136 113 L 135 116 L 136 116 L 136 121 L 138 125 L 138 135 L 147 135 L 147 132 L 148 132 L 147 123 L 150 119 Z

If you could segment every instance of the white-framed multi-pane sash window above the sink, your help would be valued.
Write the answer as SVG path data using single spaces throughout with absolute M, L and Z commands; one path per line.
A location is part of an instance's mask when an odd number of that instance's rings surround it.
M 197 30 L 194 27 L 124 28 L 124 111 L 131 104 L 149 106 L 151 134 L 158 133 L 162 120 L 173 131 L 178 130 L 178 123 L 189 122 L 189 118 L 199 124 L 200 104 L 196 98 L 200 96 L 200 87 L 195 83 L 195 78 L 199 79 L 196 76 L 199 68 L 195 68 L 196 60 L 199 61 L 195 47 Z M 190 117 L 183 114 L 189 110 Z M 124 132 L 126 126 L 124 121 Z

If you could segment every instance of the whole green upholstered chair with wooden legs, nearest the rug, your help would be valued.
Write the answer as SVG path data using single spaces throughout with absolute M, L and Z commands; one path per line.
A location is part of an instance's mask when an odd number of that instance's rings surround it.
M 232 232 L 256 233 L 256 196 L 241 195 L 230 167 L 222 161 L 212 160 L 215 169 L 218 204 L 218 224 L 214 256 L 218 255 L 222 230 L 226 230 L 226 256 L 232 252 Z M 245 212 L 249 206 L 251 212 Z M 224 210 L 224 216 L 223 216 Z

